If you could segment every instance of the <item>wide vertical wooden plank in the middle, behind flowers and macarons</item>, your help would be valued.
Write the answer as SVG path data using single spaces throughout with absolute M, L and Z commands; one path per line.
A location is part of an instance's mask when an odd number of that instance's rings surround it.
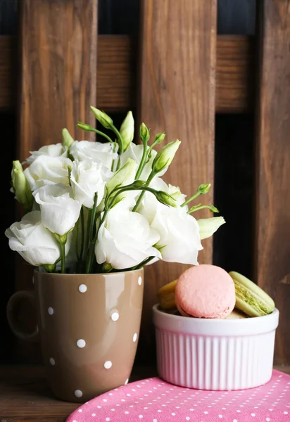
M 215 0 L 141 1 L 139 122 L 151 134 L 165 131 L 167 141 L 182 141 L 165 180 L 189 196 L 199 184 L 213 184 L 216 9 Z M 212 202 L 213 190 L 206 196 L 206 203 Z M 203 245 L 199 262 L 210 263 L 211 239 Z M 140 335 L 146 355 L 153 349 L 151 308 L 157 290 L 185 268 L 166 262 L 146 268 Z

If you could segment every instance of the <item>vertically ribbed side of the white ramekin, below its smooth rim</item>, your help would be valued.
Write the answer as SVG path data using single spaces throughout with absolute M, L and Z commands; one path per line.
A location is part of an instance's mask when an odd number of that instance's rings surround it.
M 272 375 L 275 331 L 240 337 L 175 333 L 156 327 L 158 373 L 175 385 L 240 390 Z

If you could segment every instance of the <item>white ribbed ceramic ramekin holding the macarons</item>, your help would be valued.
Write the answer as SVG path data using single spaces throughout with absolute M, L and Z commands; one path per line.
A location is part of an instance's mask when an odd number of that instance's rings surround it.
M 153 307 L 160 378 L 199 390 L 241 390 L 272 376 L 279 311 L 247 319 L 198 319 Z

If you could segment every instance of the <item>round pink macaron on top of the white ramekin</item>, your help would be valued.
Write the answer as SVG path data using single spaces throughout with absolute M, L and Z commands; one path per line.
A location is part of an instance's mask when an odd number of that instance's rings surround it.
M 179 276 L 175 289 L 177 309 L 184 316 L 224 319 L 234 309 L 234 282 L 215 265 L 198 265 Z

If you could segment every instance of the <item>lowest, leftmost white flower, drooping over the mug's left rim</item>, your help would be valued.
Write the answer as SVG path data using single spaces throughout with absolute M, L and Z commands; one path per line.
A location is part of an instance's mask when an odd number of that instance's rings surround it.
M 56 238 L 44 227 L 40 211 L 28 212 L 20 222 L 15 222 L 5 231 L 9 246 L 16 250 L 25 261 L 39 266 L 54 264 L 60 257 L 60 248 Z M 65 252 L 70 250 L 70 239 L 65 245 Z

